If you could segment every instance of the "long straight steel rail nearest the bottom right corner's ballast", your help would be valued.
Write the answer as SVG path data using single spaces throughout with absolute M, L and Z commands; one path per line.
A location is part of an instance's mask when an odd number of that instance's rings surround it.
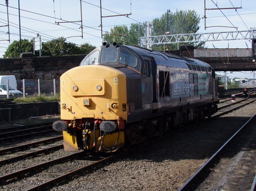
M 192 175 L 192 177 L 189 178 L 189 180 L 186 181 L 185 184 L 183 184 L 182 187 L 179 188 L 178 191 L 194 190 L 197 186 L 199 186 L 201 177 L 203 177 L 207 172 L 211 172 L 211 167 L 215 164 L 221 152 L 223 152 L 226 146 L 228 146 L 232 142 L 232 140 L 241 132 L 241 130 L 248 126 L 251 123 L 252 119 L 254 119 L 255 117 L 256 114 L 254 114 L 254 116 L 252 116 L 242 127 L 240 127 L 239 130 L 235 132 L 235 134 L 230 137 L 229 140 L 225 142 L 224 145 L 220 149 L 218 149 L 218 151 L 215 152 L 212 157 L 209 158 L 209 160 L 206 161 L 206 163 L 203 164 L 203 166 L 197 172 L 195 172 L 195 174 Z

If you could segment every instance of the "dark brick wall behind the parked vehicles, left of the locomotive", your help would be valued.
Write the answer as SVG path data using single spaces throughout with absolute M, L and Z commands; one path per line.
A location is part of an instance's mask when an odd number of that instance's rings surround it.
M 15 75 L 17 80 L 57 80 L 67 70 L 79 66 L 84 57 L 84 54 L 34 57 L 25 53 L 21 58 L 0 58 L 0 75 Z

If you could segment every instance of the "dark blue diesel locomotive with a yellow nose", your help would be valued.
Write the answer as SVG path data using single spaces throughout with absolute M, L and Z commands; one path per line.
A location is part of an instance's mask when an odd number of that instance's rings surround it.
M 194 58 L 103 43 L 60 79 L 64 149 L 112 152 L 217 111 L 214 70 Z

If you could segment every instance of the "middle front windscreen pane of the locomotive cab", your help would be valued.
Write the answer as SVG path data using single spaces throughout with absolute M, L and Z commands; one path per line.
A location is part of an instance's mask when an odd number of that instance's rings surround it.
M 102 48 L 100 55 L 100 63 L 116 63 L 118 49 L 115 47 Z

